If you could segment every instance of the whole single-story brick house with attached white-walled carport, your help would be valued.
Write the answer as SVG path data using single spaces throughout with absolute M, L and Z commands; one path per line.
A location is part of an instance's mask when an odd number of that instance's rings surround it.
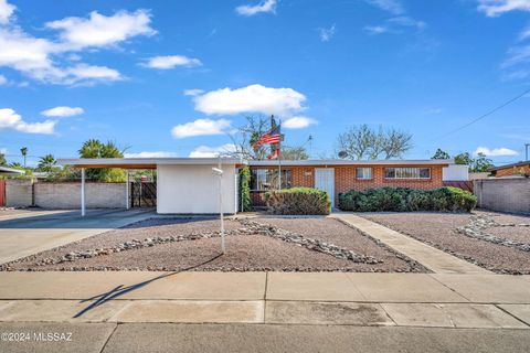
M 251 196 L 254 205 L 263 205 L 267 190 L 309 186 L 325 190 L 336 205 L 338 194 L 351 189 L 405 186 L 437 189 L 444 185 L 444 175 L 467 180 L 467 173 L 444 171 L 454 167 L 453 160 L 284 160 L 245 161 L 239 158 L 117 158 L 61 159 L 63 165 L 86 168 L 121 168 L 157 170 L 157 212 L 161 214 L 208 214 L 219 212 L 219 186 L 213 168 L 223 170 L 223 212 L 239 208 L 237 170 L 248 165 L 252 171 Z M 280 170 L 280 178 L 278 178 Z M 467 170 L 467 169 L 466 169 Z M 84 185 L 84 178 L 82 181 Z M 127 193 L 126 197 L 129 195 Z M 82 186 L 84 210 L 84 186 Z M 128 202 L 126 201 L 126 204 Z

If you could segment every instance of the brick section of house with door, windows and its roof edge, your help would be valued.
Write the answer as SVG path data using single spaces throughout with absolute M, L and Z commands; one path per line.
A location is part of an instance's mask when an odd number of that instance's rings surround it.
M 252 201 L 255 205 L 263 205 L 262 194 L 278 185 L 278 161 L 248 161 L 248 165 L 252 170 Z M 351 189 L 442 188 L 443 169 L 449 165 L 455 165 L 453 160 L 282 161 L 282 188 L 321 189 L 329 193 L 331 203 L 337 205 L 339 193 Z M 462 171 L 455 172 L 458 173 Z M 464 178 L 467 180 L 467 175 Z

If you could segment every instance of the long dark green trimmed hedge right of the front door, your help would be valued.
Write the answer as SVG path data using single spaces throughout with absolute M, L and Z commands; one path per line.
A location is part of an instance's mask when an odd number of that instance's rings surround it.
M 417 190 L 409 188 L 381 188 L 364 191 L 350 190 L 339 194 L 339 208 L 357 212 L 470 212 L 477 197 L 458 188 Z

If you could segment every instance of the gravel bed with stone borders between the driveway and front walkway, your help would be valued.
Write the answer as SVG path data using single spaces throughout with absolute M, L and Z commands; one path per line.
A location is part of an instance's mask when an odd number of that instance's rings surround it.
M 426 271 L 331 218 L 151 218 L 2 265 L 1 270 Z

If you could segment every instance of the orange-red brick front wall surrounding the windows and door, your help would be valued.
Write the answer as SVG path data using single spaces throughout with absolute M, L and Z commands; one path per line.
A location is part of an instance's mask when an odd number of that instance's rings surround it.
M 371 168 L 372 169 L 372 179 L 370 180 L 360 180 L 356 176 L 356 168 Z M 293 175 L 293 186 L 307 186 L 315 188 L 315 169 L 316 168 L 333 168 L 335 169 L 335 202 L 339 201 L 339 193 L 347 192 L 349 190 L 365 190 L 365 189 L 378 189 L 383 186 L 402 186 L 411 189 L 438 189 L 443 188 L 444 183 L 442 180 L 442 169 L 444 165 L 391 165 L 391 168 L 430 168 L 431 178 L 430 179 L 403 179 L 403 180 L 390 180 L 384 178 L 385 165 L 286 165 L 282 169 L 289 169 Z M 269 167 L 251 167 L 252 170 L 255 169 L 271 169 Z M 251 197 L 255 206 L 263 206 L 264 202 L 262 201 L 263 192 L 251 192 Z

